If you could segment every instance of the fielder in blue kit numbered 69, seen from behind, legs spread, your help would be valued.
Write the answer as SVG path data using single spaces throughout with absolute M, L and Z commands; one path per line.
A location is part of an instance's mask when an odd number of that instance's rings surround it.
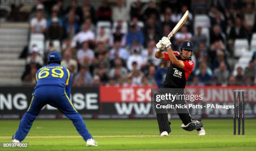
M 53 51 L 48 55 L 48 65 L 37 71 L 37 84 L 31 103 L 20 121 L 18 130 L 12 137 L 13 142 L 19 143 L 25 139 L 42 107 L 49 104 L 58 108 L 72 120 L 78 133 L 87 142 L 87 146 L 97 146 L 97 142 L 92 138 L 82 117 L 70 101 L 72 77 L 69 70 L 60 64 L 61 55 Z

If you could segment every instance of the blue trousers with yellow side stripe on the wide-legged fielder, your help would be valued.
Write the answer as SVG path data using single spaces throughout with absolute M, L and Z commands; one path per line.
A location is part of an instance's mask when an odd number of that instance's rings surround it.
M 92 138 L 91 134 L 87 130 L 82 117 L 69 100 L 65 90 L 58 86 L 41 86 L 38 87 L 32 97 L 30 106 L 27 112 L 24 114 L 20 121 L 19 128 L 13 139 L 23 141 L 30 130 L 33 121 L 38 116 L 40 110 L 44 105 L 49 104 L 58 108 L 64 115 L 72 120 L 78 133 L 83 137 L 84 141 Z

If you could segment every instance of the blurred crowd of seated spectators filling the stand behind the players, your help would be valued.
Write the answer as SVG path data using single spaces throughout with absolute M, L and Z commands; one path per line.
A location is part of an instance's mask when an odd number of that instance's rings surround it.
M 213 0 L 214 1 L 214 0 Z M 256 32 L 256 19 L 253 3 L 230 1 L 210 4 L 205 12 L 195 2 L 184 26 L 171 39 L 172 47 L 179 50 L 184 40 L 192 41 L 195 63 L 188 79 L 190 85 L 246 85 L 256 84 L 256 53 L 251 56 L 248 67 L 237 68 L 233 75 L 233 44 L 236 38 L 247 38 Z M 46 9 L 44 0 L 38 0 L 31 10 L 31 33 L 43 33 L 50 40 L 44 54 L 37 46 L 29 50 L 26 70 L 22 76 L 24 82 L 35 84 L 36 71 L 47 64 L 47 54 L 56 50 L 51 41 L 59 40 L 63 61 L 72 75 L 74 86 L 105 85 L 158 85 L 167 72 L 169 61 L 156 59 L 156 43 L 167 36 L 191 4 L 182 5 L 180 10 L 174 4 L 156 5 L 153 1 L 142 3 L 137 0 L 127 9 L 122 0 L 116 0 L 111 6 L 102 0 L 95 9 L 89 0 L 78 5 L 71 0 L 64 8 L 63 1 L 53 1 L 51 9 Z M 166 2 L 166 1 L 165 1 Z M 164 3 L 164 2 L 163 2 Z M 200 5 L 208 5 L 202 0 Z M 211 28 L 209 35 L 202 33 L 202 27 L 193 27 L 195 13 L 207 13 Z M 100 21 L 109 21 L 111 28 L 98 28 Z M 126 24 L 125 24 L 126 23 Z M 127 25 L 127 26 L 125 26 Z M 209 42 L 207 42 L 207 38 Z

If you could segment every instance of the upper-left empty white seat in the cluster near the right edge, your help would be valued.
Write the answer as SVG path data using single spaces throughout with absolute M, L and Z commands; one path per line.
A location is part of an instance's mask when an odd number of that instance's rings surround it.
M 243 52 L 248 51 L 249 42 L 247 39 L 236 39 L 234 44 L 234 56 L 242 56 Z

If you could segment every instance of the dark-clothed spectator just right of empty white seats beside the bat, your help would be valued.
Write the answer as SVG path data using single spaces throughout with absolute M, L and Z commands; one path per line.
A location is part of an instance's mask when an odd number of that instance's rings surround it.
M 210 44 L 214 44 L 215 41 L 222 41 L 225 44 L 224 33 L 220 31 L 220 26 L 213 26 L 213 30 L 210 32 Z

